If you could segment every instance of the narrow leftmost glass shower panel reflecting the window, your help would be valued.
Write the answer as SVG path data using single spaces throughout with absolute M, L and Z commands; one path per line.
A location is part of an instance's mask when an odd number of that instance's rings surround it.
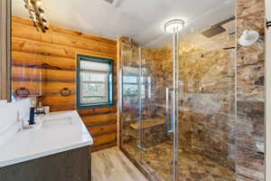
M 121 148 L 128 157 L 139 162 L 138 118 L 139 111 L 139 48 L 131 39 L 121 41 L 120 102 Z

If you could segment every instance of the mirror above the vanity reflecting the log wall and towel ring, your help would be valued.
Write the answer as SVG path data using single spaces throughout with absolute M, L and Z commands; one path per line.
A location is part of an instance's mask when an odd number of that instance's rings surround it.
M 25 1 L 27 2 L 27 1 Z M 33 26 L 31 18 L 35 14 L 30 14 L 23 0 L 12 0 L 11 16 L 11 81 L 12 100 L 22 100 L 30 97 L 42 95 L 42 68 L 44 56 L 42 55 L 42 45 L 37 41 L 42 39 L 42 31 L 37 26 Z M 16 8 L 22 8 L 22 14 L 18 14 Z M 29 7 L 29 9 L 34 9 Z M 28 18 L 20 18 L 20 16 Z M 38 51 L 37 51 L 38 50 Z M 40 50 L 40 53 L 39 53 Z

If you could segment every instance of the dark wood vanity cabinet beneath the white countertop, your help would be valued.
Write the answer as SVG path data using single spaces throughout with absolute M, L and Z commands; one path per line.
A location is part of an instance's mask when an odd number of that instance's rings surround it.
M 90 147 L 0 168 L 1 181 L 91 181 Z

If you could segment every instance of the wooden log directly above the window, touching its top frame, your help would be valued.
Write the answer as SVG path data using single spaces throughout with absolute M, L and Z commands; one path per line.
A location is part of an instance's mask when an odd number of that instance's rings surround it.
M 12 38 L 12 50 L 16 52 L 33 52 L 38 54 L 65 57 L 70 59 L 76 59 L 77 54 L 84 54 L 114 60 L 116 59 L 116 54 L 112 53 L 86 51 L 65 45 L 42 43 L 38 41 L 17 37 Z

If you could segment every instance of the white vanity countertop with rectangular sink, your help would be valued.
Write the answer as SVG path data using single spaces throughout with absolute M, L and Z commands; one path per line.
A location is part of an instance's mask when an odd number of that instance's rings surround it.
M 93 144 L 77 111 L 41 116 L 39 126 L 18 131 L 0 148 L 0 167 Z

